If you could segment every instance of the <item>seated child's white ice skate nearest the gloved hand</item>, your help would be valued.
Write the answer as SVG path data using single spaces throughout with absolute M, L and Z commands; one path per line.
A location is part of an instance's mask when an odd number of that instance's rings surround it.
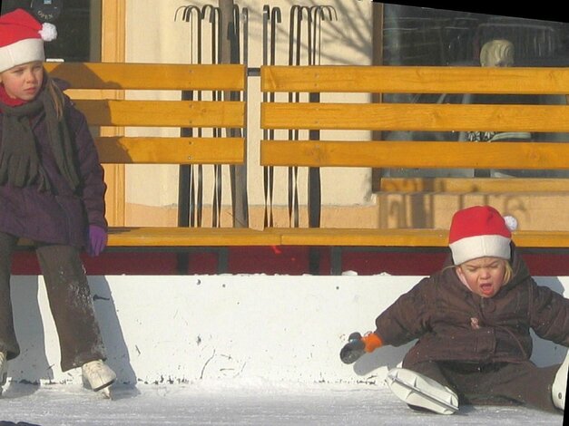
M 439 414 L 458 411 L 456 393 L 422 374 L 405 368 L 394 368 L 388 372 L 386 382 L 391 392 L 408 405 Z

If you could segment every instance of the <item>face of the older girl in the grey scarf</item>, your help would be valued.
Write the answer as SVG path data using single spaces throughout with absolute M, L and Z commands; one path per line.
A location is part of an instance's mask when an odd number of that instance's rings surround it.
M 44 63 L 33 62 L 16 65 L 0 73 L 0 82 L 4 84 L 8 96 L 22 101 L 32 101 L 44 81 Z

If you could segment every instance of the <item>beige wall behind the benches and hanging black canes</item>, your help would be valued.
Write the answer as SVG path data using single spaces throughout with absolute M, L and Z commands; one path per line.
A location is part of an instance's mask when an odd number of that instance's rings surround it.
M 217 0 L 180 1 L 180 0 L 127 0 L 126 2 L 126 61 L 135 63 L 196 63 L 197 46 L 191 44 L 192 24 L 178 20 L 174 21 L 176 10 L 184 5 L 217 5 Z M 249 12 L 249 66 L 259 67 L 262 64 L 262 6 L 268 4 L 271 8 L 279 7 L 281 23 L 277 34 L 277 64 L 286 64 L 289 60 L 289 10 L 291 5 L 321 5 L 314 1 L 273 0 L 259 2 L 257 0 L 240 1 L 240 7 L 246 7 Z M 338 21 L 322 23 L 322 40 L 320 63 L 334 64 L 369 64 L 371 63 L 371 22 L 372 5 L 370 2 L 358 0 L 336 0 L 325 2 L 332 5 L 338 12 Z M 210 39 L 210 24 L 204 21 L 204 39 Z M 305 28 L 305 27 L 303 27 Z M 306 40 L 306 30 L 302 38 Z M 203 49 L 202 62 L 210 61 L 210 48 Z M 306 59 L 302 60 L 306 63 Z M 262 225 L 262 208 L 264 206 L 263 174 L 259 166 L 260 128 L 260 90 L 259 77 L 249 77 L 249 164 L 248 164 L 248 194 L 250 202 L 250 225 L 254 228 Z M 129 93 L 133 98 L 140 96 Z M 158 93 L 166 99 L 176 99 L 179 93 Z M 344 95 L 337 95 L 335 100 L 345 100 Z M 348 102 L 352 100 L 348 99 Z M 354 102 L 366 102 L 367 96 L 357 96 Z M 127 130 L 130 134 L 136 131 Z M 177 130 L 158 131 L 163 136 L 178 134 Z M 322 138 L 325 138 L 323 132 Z M 368 132 L 355 132 L 348 138 L 369 138 Z M 211 167 L 205 167 L 206 183 L 204 200 L 211 203 L 212 180 Z M 299 197 L 301 203 L 306 203 L 307 183 L 306 170 L 299 172 Z M 287 204 L 287 170 L 275 170 L 275 208 L 284 212 L 280 220 L 288 220 L 286 214 Z M 229 202 L 229 176 L 224 168 L 223 177 L 224 204 Z M 172 222 L 172 208 L 177 203 L 178 177 L 177 167 L 171 166 L 129 166 L 126 170 L 126 221 L 127 225 L 136 223 L 149 223 L 149 221 Z M 327 209 L 334 206 L 361 206 L 373 208 L 374 198 L 371 194 L 370 169 L 322 169 L 322 201 Z M 332 215 L 334 216 L 334 215 Z M 373 223 L 377 215 L 370 217 Z M 175 217 L 175 215 L 174 215 Z M 261 222 L 259 219 L 261 218 Z M 175 219 L 174 219 L 175 220 Z M 229 210 L 224 214 L 224 220 L 231 222 Z M 361 218 L 355 219 L 356 223 Z M 370 223 L 371 223 L 370 222 Z

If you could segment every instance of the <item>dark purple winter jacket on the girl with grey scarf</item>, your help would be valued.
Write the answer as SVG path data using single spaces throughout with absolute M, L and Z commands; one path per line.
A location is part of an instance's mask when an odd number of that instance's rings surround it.
M 0 104 L 0 143 L 2 143 Z M 47 139 L 44 112 L 31 120 L 38 156 L 52 183 L 50 191 L 37 187 L 0 186 L 0 231 L 34 241 L 84 247 L 88 226 L 108 228 L 104 218 L 103 167 L 83 113 L 65 96 L 65 118 L 76 147 L 75 165 L 81 179 L 76 193 L 60 174 Z

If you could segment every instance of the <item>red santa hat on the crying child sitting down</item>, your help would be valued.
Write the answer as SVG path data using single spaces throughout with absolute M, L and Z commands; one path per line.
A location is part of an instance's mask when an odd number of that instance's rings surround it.
M 474 206 L 458 210 L 452 219 L 448 247 L 455 265 L 477 257 L 510 258 L 515 218 L 502 215 L 490 206 Z

